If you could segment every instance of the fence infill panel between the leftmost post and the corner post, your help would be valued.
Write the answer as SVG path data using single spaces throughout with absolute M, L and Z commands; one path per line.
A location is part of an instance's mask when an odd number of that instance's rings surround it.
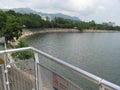
M 35 64 L 32 60 L 10 63 L 10 90 L 35 90 Z

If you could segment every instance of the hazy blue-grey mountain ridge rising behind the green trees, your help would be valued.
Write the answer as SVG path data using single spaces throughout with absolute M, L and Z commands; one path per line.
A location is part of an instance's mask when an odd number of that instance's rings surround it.
M 17 13 L 22 13 L 22 14 L 38 14 L 40 16 L 50 16 L 51 19 L 54 19 L 55 17 L 62 17 L 65 19 L 70 19 L 70 20 L 74 20 L 74 21 L 81 21 L 78 17 L 72 17 L 72 16 L 68 16 L 68 15 L 64 15 L 62 13 L 57 13 L 57 14 L 47 14 L 47 13 L 42 13 L 42 12 L 37 12 L 35 10 L 32 10 L 30 8 L 14 8 L 13 9 L 15 12 Z

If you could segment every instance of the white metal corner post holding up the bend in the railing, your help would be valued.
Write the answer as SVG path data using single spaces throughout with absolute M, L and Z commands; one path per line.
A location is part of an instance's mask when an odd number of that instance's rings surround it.
M 42 79 L 39 67 L 39 57 L 38 53 L 34 52 L 35 56 L 35 71 L 36 71 L 36 90 L 42 90 Z

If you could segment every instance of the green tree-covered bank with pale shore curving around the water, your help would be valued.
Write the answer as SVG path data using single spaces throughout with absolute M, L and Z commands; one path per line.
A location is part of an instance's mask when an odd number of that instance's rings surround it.
M 33 29 L 34 28 L 34 29 Z M 37 14 L 21 14 L 13 10 L 0 10 L 0 37 L 5 37 L 8 48 L 27 47 L 26 41 L 20 39 L 30 35 L 40 33 L 54 32 L 118 32 L 120 26 L 114 26 L 108 23 L 97 24 L 94 20 L 89 22 L 75 21 L 61 17 L 55 17 L 50 20 L 47 16 L 42 19 Z M 18 43 L 13 44 L 13 42 Z M 12 46 L 12 47 L 11 47 Z M 21 53 L 20 57 L 24 59 L 32 56 L 31 52 Z M 15 55 L 13 55 L 15 56 Z

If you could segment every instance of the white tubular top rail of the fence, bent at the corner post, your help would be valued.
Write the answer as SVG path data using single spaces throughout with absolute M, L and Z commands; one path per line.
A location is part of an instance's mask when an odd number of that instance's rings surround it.
M 89 72 L 86 72 L 76 66 L 73 66 L 67 62 L 64 62 L 63 60 L 60 60 L 56 57 L 53 57 L 45 52 L 42 52 L 38 49 L 35 49 L 33 47 L 25 47 L 25 48 L 18 48 L 18 49 L 11 49 L 11 50 L 4 50 L 4 51 L 0 51 L 0 54 L 4 54 L 4 53 L 13 53 L 13 52 L 19 52 L 19 51 L 25 51 L 25 50 L 32 50 L 33 52 L 36 52 L 40 55 L 43 55 L 44 57 L 64 66 L 67 67 L 69 70 L 72 70 L 74 72 L 76 72 L 77 74 L 79 74 L 80 76 L 82 76 L 83 78 L 92 81 L 93 83 L 97 84 L 98 86 L 107 88 L 107 89 L 114 89 L 114 90 L 120 90 L 120 86 L 113 84 L 107 80 L 104 80 L 103 78 L 100 78 L 96 75 L 93 75 Z

